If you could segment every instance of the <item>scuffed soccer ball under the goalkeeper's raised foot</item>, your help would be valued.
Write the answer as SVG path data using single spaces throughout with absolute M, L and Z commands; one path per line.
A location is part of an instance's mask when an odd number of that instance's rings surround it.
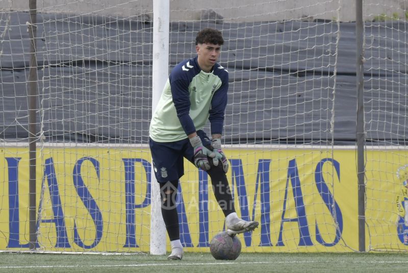
M 235 260 L 241 254 L 241 241 L 237 236 L 220 232 L 211 240 L 210 251 L 216 260 Z

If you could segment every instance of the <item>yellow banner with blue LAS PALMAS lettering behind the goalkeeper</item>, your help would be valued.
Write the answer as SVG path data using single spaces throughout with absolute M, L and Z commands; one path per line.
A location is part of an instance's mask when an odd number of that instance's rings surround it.
M 2 153 L 0 250 L 28 250 L 28 148 L 3 147 Z M 243 252 L 358 250 L 354 150 L 248 148 L 227 149 L 225 154 L 238 215 L 260 222 L 254 232 L 238 235 Z M 405 155 L 384 151 L 367 154 L 374 159 L 367 169 L 376 169 L 366 173 L 367 183 L 375 185 L 367 187 L 367 223 L 374 227 L 367 243 L 384 248 L 406 247 L 405 227 L 398 225 L 403 216 L 395 205 L 401 189 L 395 171 L 405 164 L 401 157 Z M 36 173 L 37 248 L 148 252 L 149 162 L 144 148 L 43 148 Z M 376 162 L 382 164 L 373 166 Z M 224 229 L 211 181 L 188 161 L 180 181 L 181 241 L 186 251 L 208 252 L 211 238 Z

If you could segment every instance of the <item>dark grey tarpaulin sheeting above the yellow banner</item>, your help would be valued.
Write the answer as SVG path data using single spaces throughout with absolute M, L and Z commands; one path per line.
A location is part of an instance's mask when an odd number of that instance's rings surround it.
M 9 31 L 0 22 L 0 138 L 6 141 L 28 137 L 28 16 L 11 13 Z M 64 16 L 38 14 L 38 131 L 45 141 L 147 143 L 151 22 Z M 225 143 L 331 143 L 334 128 L 335 144 L 354 144 L 354 23 L 340 23 L 336 60 L 335 22 L 172 22 L 170 69 L 195 56 L 194 38 L 203 27 L 222 30 L 225 39 Z M 396 21 L 365 28 L 369 141 L 405 143 L 405 29 Z

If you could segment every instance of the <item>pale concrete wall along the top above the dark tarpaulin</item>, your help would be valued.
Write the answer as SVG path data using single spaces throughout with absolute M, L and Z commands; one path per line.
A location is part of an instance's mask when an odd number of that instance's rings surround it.
M 162 0 L 166 1 L 166 0 Z M 28 2 L 16 0 L 0 0 L 2 11 L 28 10 Z M 341 21 L 355 20 L 355 0 L 275 0 L 270 3 L 261 0 L 170 0 L 170 19 L 175 21 L 198 20 L 202 15 L 223 18 L 226 22 L 274 21 L 290 19 L 338 19 Z M 257 4 L 262 3 L 262 4 Z M 341 8 L 339 9 L 339 3 Z M 408 0 L 366 0 L 364 15 L 366 20 L 386 14 L 396 14 L 405 19 Z M 135 15 L 152 17 L 152 0 L 38 0 L 37 8 L 43 13 L 92 13 L 129 17 Z M 206 13 L 207 12 L 207 13 Z M 204 13 L 204 14 L 203 14 Z

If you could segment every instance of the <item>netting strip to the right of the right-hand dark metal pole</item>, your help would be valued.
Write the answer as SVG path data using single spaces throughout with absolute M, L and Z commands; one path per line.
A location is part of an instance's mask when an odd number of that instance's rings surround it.
M 408 6 L 404 1 L 364 6 L 367 250 L 403 251 L 408 245 Z

